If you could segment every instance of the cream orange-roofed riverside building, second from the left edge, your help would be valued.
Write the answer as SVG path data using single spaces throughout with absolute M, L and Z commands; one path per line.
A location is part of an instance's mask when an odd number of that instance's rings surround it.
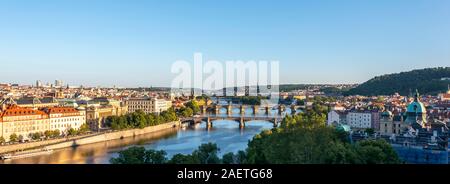
M 86 112 L 83 109 L 70 107 L 50 107 L 44 109 L 50 119 L 50 130 L 59 130 L 67 134 L 69 129 L 78 130 L 86 123 Z

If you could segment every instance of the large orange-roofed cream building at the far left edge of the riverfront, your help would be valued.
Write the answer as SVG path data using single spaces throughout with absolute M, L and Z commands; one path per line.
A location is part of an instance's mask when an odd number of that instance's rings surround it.
M 0 113 L 0 137 L 7 142 L 13 134 L 21 140 L 29 140 L 31 134 L 49 129 L 49 116 L 40 110 L 10 105 Z

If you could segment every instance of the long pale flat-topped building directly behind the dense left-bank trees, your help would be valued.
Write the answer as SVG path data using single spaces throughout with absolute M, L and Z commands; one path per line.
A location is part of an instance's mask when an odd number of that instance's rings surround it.
M 144 113 L 160 113 L 172 106 L 172 101 L 157 98 L 130 98 L 126 100 L 128 112 L 143 111 Z

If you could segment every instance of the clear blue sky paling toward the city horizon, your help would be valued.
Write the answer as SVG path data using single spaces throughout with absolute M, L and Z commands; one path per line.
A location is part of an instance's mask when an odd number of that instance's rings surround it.
M 178 59 L 279 60 L 282 83 L 449 66 L 449 0 L 0 0 L 0 83 L 169 86 Z

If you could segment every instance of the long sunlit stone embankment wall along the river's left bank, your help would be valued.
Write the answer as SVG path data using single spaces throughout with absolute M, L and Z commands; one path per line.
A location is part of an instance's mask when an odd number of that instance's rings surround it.
M 31 142 L 24 144 L 15 144 L 15 145 L 6 145 L 0 146 L 0 154 L 11 153 L 18 150 L 27 150 L 27 149 L 61 149 L 67 147 L 76 147 L 86 144 L 93 144 L 98 142 L 105 142 L 115 139 L 123 139 L 127 137 L 134 137 L 138 135 L 144 135 L 149 133 L 154 133 L 162 130 L 178 128 L 180 126 L 179 121 L 164 123 L 161 125 L 146 127 L 143 129 L 132 129 L 132 130 L 123 130 L 117 132 L 107 132 L 107 133 L 95 133 L 90 135 L 84 135 L 79 137 L 71 137 L 71 138 L 61 138 L 54 140 L 46 140 L 39 142 Z

